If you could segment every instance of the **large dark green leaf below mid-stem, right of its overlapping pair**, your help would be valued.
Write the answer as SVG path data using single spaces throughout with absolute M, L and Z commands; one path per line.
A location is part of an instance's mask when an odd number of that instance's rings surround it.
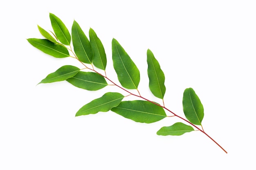
M 113 112 L 141 123 L 153 123 L 166 117 L 162 107 L 143 100 L 124 101 L 111 109 Z

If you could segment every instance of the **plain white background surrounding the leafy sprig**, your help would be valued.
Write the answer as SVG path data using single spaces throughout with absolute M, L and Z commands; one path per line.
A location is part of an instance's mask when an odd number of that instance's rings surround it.
M 254 170 L 255 9 L 254 0 L 2 2 L 0 169 Z M 141 95 L 161 102 L 148 89 L 150 49 L 165 73 L 166 107 L 184 117 L 183 91 L 192 87 L 204 105 L 204 130 L 228 153 L 201 132 L 156 135 L 162 126 L 181 121 L 175 117 L 153 124 L 111 111 L 75 117 L 84 104 L 119 89 L 91 92 L 68 82 L 37 85 L 63 65 L 81 66 L 27 42 L 43 38 L 37 24 L 52 30 L 49 13 L 70 31 L 73 20 L 86 35 L 94 29 L 106 49 L 107 75 L 118 83 L 111 60 L 111 41 L 117 39 L 140 70 Z

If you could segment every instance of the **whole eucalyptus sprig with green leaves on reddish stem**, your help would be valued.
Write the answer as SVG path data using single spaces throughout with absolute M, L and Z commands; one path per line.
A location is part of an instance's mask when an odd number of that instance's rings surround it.
M 149 89 L 155 97 L 162 99 L 162 104 L 146 99 L 139 93 L 139 69 L 115 38 L 112 39 L 112 61 L 120 84 L 113 82 L 107 76 L 105 49 L 92 28 L 89 30 L 88 39 L 79 24 L 74 20 L 70 35 L 70 31 L 68 31 L 60 18 L 52 13 L 49 13 L 49 18 L 53 32 L 47 32 L 38 26 L 40 33 L 45 39 L 29 38 L 27 39 L 28 42 L 53 57 L 72 57 L 80 62 L 83 67 L 62 66 L 54 73 L 47 75 L 39 84 L 67 81 L 76 87 L 88 91 L 97 91 L 106 86 L 114 85 L 122 89 L 124 93 L 128 93 L 128 95 L 117 92 L 105 93 L 102 97 L 82 106 L 76 112 L 76 116 L 111 110 L 125 118 L 147 124 L 160 121 L 166 117 L 179 117 L 184 123 L 177 122 L 168 127 L 164 126 L 157 131 L 157 135 L 183 135 L 186 132 L 200 131 L 227 153 L 224 148 L 204 131 L 202 127 L 204 108 L 193 88 L 186 88 L 183 93 L 182 104 L 186 119 L 166 108 L 164 105 L 164 94 L 166 91 L 164 72 L 150 49 L 147 50 Z M 94 66 L 103 73 L 97 71 Z M 137 94 L 129 90 L 136 90 Z M 138 97 L 138 100 L 125 101 L 124 98 L 130 95 Z M 171 115 L 166 115 L 166 111 Z

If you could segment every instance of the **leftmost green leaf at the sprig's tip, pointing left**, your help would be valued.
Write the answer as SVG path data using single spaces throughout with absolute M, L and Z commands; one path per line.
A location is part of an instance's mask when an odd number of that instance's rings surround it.
M 29 38 L 27 40 L 32 46 L 54 57 L 64 58 L 70 56 L 65 46 L 54 44 L 49 40 L 37 38 Z

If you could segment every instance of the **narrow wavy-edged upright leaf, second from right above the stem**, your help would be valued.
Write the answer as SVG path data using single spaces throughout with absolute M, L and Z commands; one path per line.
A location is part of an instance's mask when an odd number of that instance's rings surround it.
M 155 59 L 150 49 L 147 51 L 147 62 L 150 91 L 155 97 L 163 99 L 166 90 L 164 86 L 164 72 L 160 68 L 158 61 Z

